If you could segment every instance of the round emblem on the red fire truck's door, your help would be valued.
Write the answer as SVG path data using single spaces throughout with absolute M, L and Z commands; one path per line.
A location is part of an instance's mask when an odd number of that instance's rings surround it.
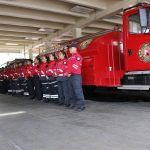
M 138 52 L 141 61 L 150 62 L 150 44 L 144 43 Z

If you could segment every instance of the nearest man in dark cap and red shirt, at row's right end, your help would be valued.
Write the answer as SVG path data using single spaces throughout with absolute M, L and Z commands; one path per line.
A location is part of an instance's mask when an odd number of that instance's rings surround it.
M 71 44 L 69 46 L 71 57 L 68 58 L 68 77 L 69 77 L 69 91 L 71 108 L 78 111 L 85 109 L 84 95 L 82 90 L 81 66 L 82 57 L 77 53 L 77 45 Z

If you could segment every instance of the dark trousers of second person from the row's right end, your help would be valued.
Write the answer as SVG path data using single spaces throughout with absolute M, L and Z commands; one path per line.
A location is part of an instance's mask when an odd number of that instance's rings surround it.
M 59 94 L 59 103 L 64 105 L 69 105 L 69 87 L 68 87 L 68 78 L 67 77 L 57 77 L 58 81 L 58 94 Z

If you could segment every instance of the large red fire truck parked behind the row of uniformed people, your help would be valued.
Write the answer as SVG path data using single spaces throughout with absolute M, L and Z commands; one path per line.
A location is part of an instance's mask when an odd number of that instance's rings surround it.
M 78 44 L 83 57 L 84 86 L 150 89 L 150 4 L 124 10 L 123 31 L 97 33 L 65 44 L 71 42 Z

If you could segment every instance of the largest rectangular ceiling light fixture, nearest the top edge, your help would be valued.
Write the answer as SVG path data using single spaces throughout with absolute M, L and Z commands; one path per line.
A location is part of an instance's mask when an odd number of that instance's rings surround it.
M 76 13 L 88 14 L 88 13 L 93 12 L 94 9 L 93 8 L 88 8 L 88 7 L 76 5 L 73 8 L 71 8 L 71 11 L 76 12 Z

